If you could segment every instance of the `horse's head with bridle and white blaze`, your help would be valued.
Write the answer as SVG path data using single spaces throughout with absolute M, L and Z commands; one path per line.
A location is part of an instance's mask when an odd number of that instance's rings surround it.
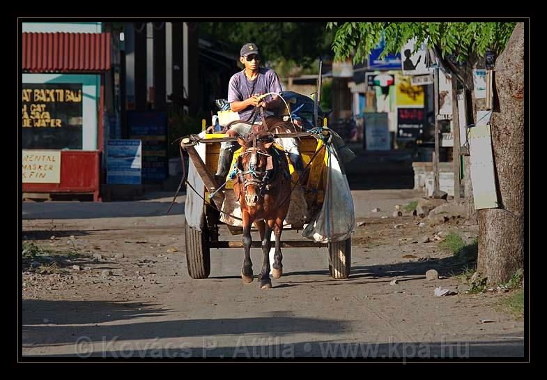
M 256 206 L 268 182 L 268 170 L 273 169 L 270 147 L 273 136 L 267 132 L 252 132 L 241 137 L 238 143 L 242 153 L 238 157 L 238 188 L 245 194 L 247 206 Z

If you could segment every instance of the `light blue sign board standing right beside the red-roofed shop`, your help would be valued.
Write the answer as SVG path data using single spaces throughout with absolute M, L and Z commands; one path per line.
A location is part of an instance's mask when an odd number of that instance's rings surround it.
M 107 183 L 141 184 L 141 140 L 108 140 Z

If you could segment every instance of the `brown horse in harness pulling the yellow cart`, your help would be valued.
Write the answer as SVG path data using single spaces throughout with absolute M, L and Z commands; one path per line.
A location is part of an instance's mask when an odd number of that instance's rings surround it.
M 273 136 L 268 132 L 253 130 L 245 138 L 238 136 L 242 153 L 238 157 L 238 172 L 233 190 L 240 202 L 243 220 L 243 247 L 245 259 L 241 270 L 243 282 L 253 281 L 251 261 L 251 225 L 259 229 L 264 260 L 259 275 L 262 289 L 272 287 L 270 280 L 270 237 L 275 234 L 275 254 L 272 265 L 273 278 L 283 274 L 281 234 L 283 221 L 287 215 L 291 194 L 291 176 L 283 151 L 273 144 Z

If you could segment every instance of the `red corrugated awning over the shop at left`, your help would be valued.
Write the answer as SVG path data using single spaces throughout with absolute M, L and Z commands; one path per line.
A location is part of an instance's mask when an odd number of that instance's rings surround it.
M 110 33 L 23 33 L 30 73 L 110 70 Z

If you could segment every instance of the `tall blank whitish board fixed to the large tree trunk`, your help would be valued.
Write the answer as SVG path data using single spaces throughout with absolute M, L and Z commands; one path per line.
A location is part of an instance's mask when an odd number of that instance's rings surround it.
M 495 188 L 490 126 L 470 128 L 469 153 L 475 210 L 497 208 L 499 206 L 498 193 Z

